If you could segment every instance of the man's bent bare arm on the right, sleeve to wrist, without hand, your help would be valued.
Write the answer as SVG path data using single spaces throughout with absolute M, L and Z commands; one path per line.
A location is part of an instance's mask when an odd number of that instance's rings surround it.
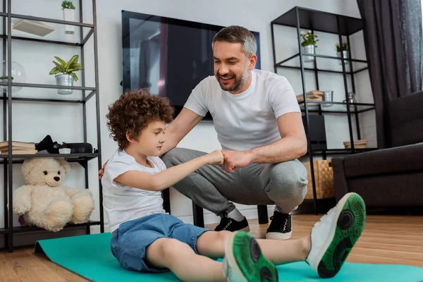
M 300 113 L 279 116 L 278 128 L 281 140 L 247 151 L 252 162 L 276 164 L 298 159 L 307 153 L 307 137 Z

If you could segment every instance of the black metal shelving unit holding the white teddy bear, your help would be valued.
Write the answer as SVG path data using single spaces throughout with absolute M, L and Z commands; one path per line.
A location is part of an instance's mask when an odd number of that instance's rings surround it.
M 8 141 L 8 154 L 0 156 L 0 164 L 4 166 L 4 228 L 0 228 L 0 234 L 4 235 L 4 246 L 9 252 L 13 252 L 13 235 L 16 233 L 27 233 L 34 231 L 43 231 L 42 228 L 35 226 L 13 226 L 13 164 L 22 164 L 25 159 L 36 157 L 64 157 L 69 162 L 78 162 L 85 169 L 85 189 L 89 189 L 88 185 L 88 161 L 97 158 L 98 168 L 102 167 L 101 158 L 101 135 L 100 135 L 100 117 L 99 117 L 99 75 L 98 75 L 98 49 L 97 49 L 97 13 L 96 13 L 96 0 L 92 0 L 92 24 L 82 23 L 82 0 L 79 0 L 80 7 L 80 22 L 69 22 L 65 20 L 56 20 L 51 18 L 39 18 L 35 16 L 25 16 L 11 13 L 12 1 L 3 1 L 3 11 L 0 16 L 3 18 L 3 59 L 7 60 L 8 66 L 8 82 L 0 82 L 0 85 L 7 86 L 7 91 L 3 92 L 0 97 L 3 100 L 3 127 L 4 127 L 4 140 Z M 79 42 L 62 42 L 56 40 L 37 39 L 30 37 L 16 37 L 11 35 L 11 20 L 12 18 L 37 20 L 45 23 L 56 23 L 62 25 L 75 25 L 80 27 L 80 40 Z M 90 30 L 84 36 L 83 28 L 87 27 Z M 85 56 L 84 47 L 87 42 L 94 40 L 94 87 L 85 86 L 85 71 L 81 74 L 82 86 L 65 87 L 59 85 L 45 85 L 33 83 L 13 83 L 11 82 L 11 66 L 12 66 L 12 52 L 11 44 L 13 40 L 25 40 L 28 42 L 40 42 L 44 44 L 57 44 L 66 45 L 80 48 L 80 60 L 82 68 L 85 69 Z M 36 52 L 36 51 L 35 51 Z M 3 69 L 4 73 L 6 68 Z M 81 90 L 81 99 L 44 99 L 35 97 L 13 97 L 12 87 L 35 87 L 39 89 L 73 89 Z M 87 95 L 86 95 L 87 94 Z M 83 142 L 87 142 L 87 109 L 86 103 L 95 98 L 95 110 L 97 119 L 97 148 L 92 153 L 87 154 L 27 154 L 27 155 L 13 155 L 12 154 L 12 141 L 13 141 L 13 128 L 12 128 L 12 103 L 18 101 L 27 101 L 34 103 L 71 103 L 80 104 L 82 106 L 83 115 Z M 94 147 L 94 146 L 93 146 Z M 96 171 L 97 174 L 97 171 Z M 65 228 L 86 227 L 86 233 L 90 233 L 90 226 L 100 226 L 100 232 L 104 232 L 104 214 L 102 208 L 102 183 L 99 180 L 99 221 L 89 221 L 82 224 L 68 224 Z

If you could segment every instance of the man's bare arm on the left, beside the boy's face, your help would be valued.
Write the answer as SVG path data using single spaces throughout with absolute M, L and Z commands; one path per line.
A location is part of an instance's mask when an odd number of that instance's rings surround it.
M 182 140 L 183 137 L 202 120 L 202 118 L 202 116 L 195 114 L 195 112 L 183 108 L 164 131 L 166 142 L 164 142 L 163 147 L 161 147 L 161 154 L 165 154 L 176 147 L 180 140 Z

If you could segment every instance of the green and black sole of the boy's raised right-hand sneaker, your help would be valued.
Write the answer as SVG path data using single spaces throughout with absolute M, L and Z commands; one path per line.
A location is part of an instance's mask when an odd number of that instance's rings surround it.
M 321 278 L 331 278 L 341 269 L 364 229 L 366 207 L 360 195 L 350 192 L 336 206 L 338 219 L 331 227 L 331 240 L 321 248 L 317 259 L 317 273 Z

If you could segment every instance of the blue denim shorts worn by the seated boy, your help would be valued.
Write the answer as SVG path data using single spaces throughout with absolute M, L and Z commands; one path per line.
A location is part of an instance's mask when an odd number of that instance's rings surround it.
M 197 254 L 197 238 L 206 231 L 210 229 L 183 223 L 170 214 L 151 214 L 122 223 L 111 238 L 111 252 L 124 269 L 167 272 L 147 263 L 147 247 L 159 238 L 173 238 L 188 244 Z

